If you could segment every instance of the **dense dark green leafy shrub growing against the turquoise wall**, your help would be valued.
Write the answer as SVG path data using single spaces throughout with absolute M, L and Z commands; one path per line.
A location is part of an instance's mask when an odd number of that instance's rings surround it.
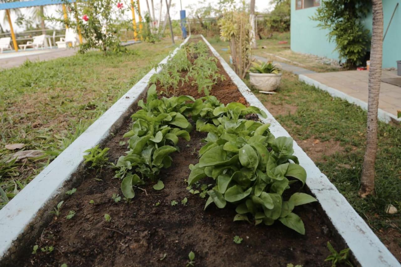
M 346 67 L 353 68 L 362 63 L 369 48 L 369 30 L 361 20 L 371 5 L 366 0 L 320 1 L 313 20 L 318 26 L 330 30 L 329 41 L 335 40 L 340 59 L 346 60 Z

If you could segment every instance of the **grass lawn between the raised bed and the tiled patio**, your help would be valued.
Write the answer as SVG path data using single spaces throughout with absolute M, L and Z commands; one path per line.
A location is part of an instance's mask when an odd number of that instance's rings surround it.
M 229 53 L 221 50 L 228 44 L 215 39 L 211 43 L 228 62 Z M 249 80 L 245 83 L 252 88 Z M 298 75 L 286 71 L 277 94 L 254 93 L 401 261 L 400 212 L 385 212 L 388 204 L 401 210 L 401 126 L 379 123 L 376 194 L 362 199 L 358 190 L 366 111 L 306 85 Z

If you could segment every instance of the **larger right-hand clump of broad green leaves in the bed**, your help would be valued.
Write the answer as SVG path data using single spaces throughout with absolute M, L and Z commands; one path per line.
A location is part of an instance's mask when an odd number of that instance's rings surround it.
M 272 225 L 279 220 L 305 234 L 304 223 L 292 211 L 295 206 L 316 199 L 297 192 L 284 200 L 282 194 L 291 184 L 304 185 L 306 172 L 292 155 L 292 138 L 275 138 L 269 124 L 241 119 L 247 113 L 257 112 L 255 107 L 230 103 L 215 108 L 214 118 L 196 121 L 197 130 L 208 132 L 207 144 L 199 151 L 199 163 L 190 165 L 188 184 L 206 177 L 215 180 L 205 209 L 212 202 L 218 208 L 229 202 L 236 206 L 235 221 L 249 221 L 249 215 L 255 225 Z

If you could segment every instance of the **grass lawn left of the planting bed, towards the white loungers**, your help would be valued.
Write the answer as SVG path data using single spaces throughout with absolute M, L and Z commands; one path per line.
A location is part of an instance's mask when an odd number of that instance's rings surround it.
M 0 71 L 0 185 L 8 198 L 166 57 L 175 48 L 170 44 L 140 43 L 128 54 L 92 51 Z M 15 143 L 44 150 L 45 158 L 6 163 L 12 151 L 4 147 Z

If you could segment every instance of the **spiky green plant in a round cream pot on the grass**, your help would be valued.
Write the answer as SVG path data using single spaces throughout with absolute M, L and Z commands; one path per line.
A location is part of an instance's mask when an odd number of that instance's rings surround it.
M 253 67 L 249 69 L 249 81 L 261 91 L 273 91 L 280 84 L 280 69 L 271 61 L 252 62 Z

